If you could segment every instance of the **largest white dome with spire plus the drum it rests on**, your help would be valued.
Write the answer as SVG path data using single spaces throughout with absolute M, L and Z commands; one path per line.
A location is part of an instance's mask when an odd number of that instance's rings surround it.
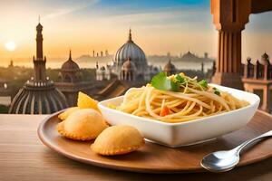
M 134 66 L 133 79 L 124 79 L 124 72 L 127 69 L 127 65 Z M 133 65 L 132 65 L 133 64 Z M 148 68 L 145 53 L 141 50 L 141 47 L 132 41 L 131 29 L 129 33 L 129 39 L 124 43 L 115 53 L 113 59 L 113 72 L 118 75 L 119 80 L 123 81 L 136 81 L 145 80 L 145 71 Z M 133 69 L 134 69 L 133 68 Z

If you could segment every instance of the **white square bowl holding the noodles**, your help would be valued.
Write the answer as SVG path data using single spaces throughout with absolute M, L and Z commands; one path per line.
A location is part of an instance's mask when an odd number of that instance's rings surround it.
M 141 118 L 107 107 L 109 103 L 120 105 L 123 96 L 103 100 L 98 106 L 104 118 L 111 125 L 130 125 L 138 129 L 144 138 L 170 148 L 177 148 L 203 142 L 211 138 L 218 138 L 221 135 L 240 129 L 255 114 L 259 104 L 257 95 L 216 84 L 209 85 L 229 92 L 240 100 L 247 100 L 249 105 L 238 110 L 180 123 L 166 123 L 159 120 Z

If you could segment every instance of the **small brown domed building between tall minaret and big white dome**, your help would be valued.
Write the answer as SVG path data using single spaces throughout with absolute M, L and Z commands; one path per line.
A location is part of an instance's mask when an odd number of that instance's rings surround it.
M 81 69 L 76 62 L 73 62 L 71 50 L 68 60 L 63 62 L 55 86 L 63 92 L 70 107 L 76 105 L 78 91 L 89 93 L 93 88 L 93 82 L 82 80 Z

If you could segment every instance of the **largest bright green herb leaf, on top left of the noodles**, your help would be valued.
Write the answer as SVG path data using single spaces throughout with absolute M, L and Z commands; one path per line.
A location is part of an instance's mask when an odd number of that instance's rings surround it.
M 158 90 L 178 91 L 180 89 L 179 82 L 168 79 L 165 72 L 155 75 L 151 80 L 151 85 Z

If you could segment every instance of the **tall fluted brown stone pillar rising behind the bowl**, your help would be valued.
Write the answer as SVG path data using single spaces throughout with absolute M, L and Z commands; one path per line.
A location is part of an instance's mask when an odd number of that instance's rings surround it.
M 211 0 L 213 23 L 219 31 L 217 70 L 212 82 L 243 89 L 241 81 L 241 32 L 248 23 L 248 0 Z

